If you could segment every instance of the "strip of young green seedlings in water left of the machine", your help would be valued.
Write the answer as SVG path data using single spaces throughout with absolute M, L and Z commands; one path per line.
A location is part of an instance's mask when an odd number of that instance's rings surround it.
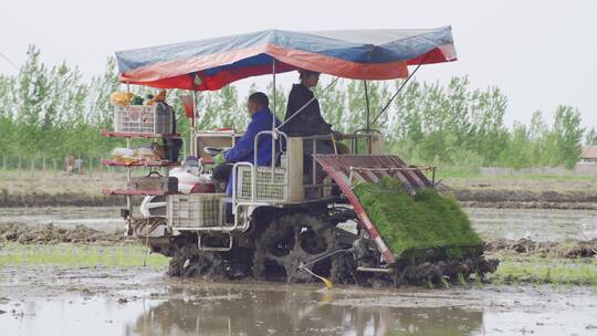
M 7 266 L 64 266 L 64 267 L 136 267 L 142 266 L 146 249 L 142 245 L 31 245 L 7 243 L 0 249 L 0 267 Z M 168 259 L 148 254 L 146 265 L 164 269 Z

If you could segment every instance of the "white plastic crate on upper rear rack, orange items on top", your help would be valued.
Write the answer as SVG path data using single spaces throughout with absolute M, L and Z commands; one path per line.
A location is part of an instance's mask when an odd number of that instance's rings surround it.
M 114 132 L 170 134 L 172 109 L 166 105 L 114 106 Z

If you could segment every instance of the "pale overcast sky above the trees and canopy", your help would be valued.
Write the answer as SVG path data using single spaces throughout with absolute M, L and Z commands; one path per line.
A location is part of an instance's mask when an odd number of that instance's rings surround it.
M 419 80 L 468 75 L 509 97 L 506 123 L 576 106 L 597 127 L 597 1 L 28 1 L 3 0 L 0 53 L 21 64 L 28 44 L 46 63 L 65 60 L 85 76 L 114 51 L 263 29 L 328 30 L 452 25 L 459 60 Z M 0 57 L 0 73 L 14 67 Z M 283 83 L 290 85 L 290 78 Z M 251 80 L 245 80 L 251 81 Z

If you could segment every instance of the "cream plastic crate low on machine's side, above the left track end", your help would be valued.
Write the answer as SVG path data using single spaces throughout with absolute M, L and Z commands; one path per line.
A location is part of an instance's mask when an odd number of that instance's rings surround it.
M 223 223 L 226 193 L 168 195 L 166 218 L 172 228 L 219 227 Z

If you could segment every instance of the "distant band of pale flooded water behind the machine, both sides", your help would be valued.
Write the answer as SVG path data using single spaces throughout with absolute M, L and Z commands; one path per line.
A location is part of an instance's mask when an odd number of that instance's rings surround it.
M 553 209 L 464 209 L 473 227 L 485 239 L 534 241 L 590 240 L 597 238 L 596 210 Z M 8 208 L 0 209 L 0 223 L 73 227 L 85 224 L 97 230 L 123 230 L 118 208 Z

